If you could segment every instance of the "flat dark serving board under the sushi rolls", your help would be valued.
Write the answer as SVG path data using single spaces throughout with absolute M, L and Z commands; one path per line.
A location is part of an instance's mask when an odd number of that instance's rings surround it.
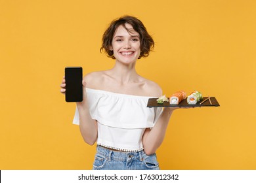
M 207 99 L 207 98 L 208 97 L 203 97 L 203 99 L 196 104 L 188 104 L 188 102 L 186 101 L 187 98 L 181 101 L 181 103 L 179 104 L 170 104 L 169 102 L 163 102 L 162 104 L 160 104 L 156 101 L 158 98 L 150 98 L 148 99 L 147 107 L 219 107 L 220 106 L 215 97 L 211 97 L 211 103 L 209 102 L 209 100 L 207 100 L 204 103 L 200 104 L 204 99 Z

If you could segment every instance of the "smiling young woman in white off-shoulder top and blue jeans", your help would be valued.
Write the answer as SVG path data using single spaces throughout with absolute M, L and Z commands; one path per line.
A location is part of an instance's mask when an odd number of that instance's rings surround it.
M 137 59 L 147 57 L 154 41 L 133 16 L 114 20 L 102 37 L 101 52 L 115 59 L 112 69 L 83 78 L 83 102 L 77 103 L 74 124 L 87 144 L 97 142 L 93 169 L 160 169 L 156 150 L 175 108 L 147 108 L 161 88 L 140 76 Z M 65 78 L 60 85 L 65 93 Z

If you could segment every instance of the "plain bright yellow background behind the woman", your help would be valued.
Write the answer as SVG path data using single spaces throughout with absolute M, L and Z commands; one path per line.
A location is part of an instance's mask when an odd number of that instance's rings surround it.
M 156 48 L 137 63 L 163 93 L 198 90 L 221 107 L 176 110 L 161 169 L 256 169 L 256 1 L 1 0 L 0 169 L 91 169 L 95 147 L 72 125 L 66 66 L 109 69 L 102 33 L 137 16 Z

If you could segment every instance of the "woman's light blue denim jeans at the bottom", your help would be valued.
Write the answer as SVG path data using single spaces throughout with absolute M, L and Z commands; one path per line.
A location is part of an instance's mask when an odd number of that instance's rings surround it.
M 156 154 L 119 152 L 97 146 L 93 170 L 159 170 Z

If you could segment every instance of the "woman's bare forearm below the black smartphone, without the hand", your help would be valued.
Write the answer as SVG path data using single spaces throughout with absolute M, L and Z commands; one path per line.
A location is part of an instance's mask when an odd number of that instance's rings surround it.
M 96 120 L 91 118 L 89 108 L 85 103 L 77 104 L 77 109 L 79 110 L 79 128 L 83 140 L 87 144 L 93 145 L 98 136 Z

